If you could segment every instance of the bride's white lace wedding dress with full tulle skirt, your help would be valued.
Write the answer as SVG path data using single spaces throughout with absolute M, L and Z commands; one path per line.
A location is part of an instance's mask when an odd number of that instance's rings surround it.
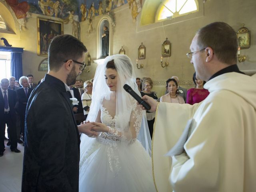
M 136 104 L 132 107 L 136 108 Z M 133 112 L 136 110 L 133 110 Z M 100 119 L 106 126 L 114 127 L 124 117 L 112 117 L 101 104 Z M 132 114 L 140 129 L 141 115 Z M 122 117 L 121 117 L 122 116 Z M 135 138 L 128 143 L 115 134 L 101 132 L 92 139 L 80 160 L 80 192 L 155 192 L 152 164 L 149 154 Z

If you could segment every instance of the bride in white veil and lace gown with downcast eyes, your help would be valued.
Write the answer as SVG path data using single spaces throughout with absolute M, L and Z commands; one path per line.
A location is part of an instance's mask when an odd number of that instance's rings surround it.
M 140 94 L 130 58 L 106 57 L 96 69 L 87 117 L 99 135 L 81 136 L 80 192 L 155 191 L 146 114 L 124 84 Z

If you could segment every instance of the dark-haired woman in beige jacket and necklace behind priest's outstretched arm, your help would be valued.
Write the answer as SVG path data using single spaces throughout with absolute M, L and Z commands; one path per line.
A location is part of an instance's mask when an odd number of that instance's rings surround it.
M 166 81 L 166 88 L 169 93 L 162 96 L 160 98 L 160 102 L 180 103 L 180 104 L 185 103 L 184 99 L 178 95 L 179 94 L 178 83 L 174 78 L 168 79 Z

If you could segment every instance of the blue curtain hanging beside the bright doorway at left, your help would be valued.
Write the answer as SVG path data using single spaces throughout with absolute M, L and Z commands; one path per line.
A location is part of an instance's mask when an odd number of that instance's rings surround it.
M 22 76 L 22 53 L 11 53 L 11 76 L 14 76 L 17 80 Z

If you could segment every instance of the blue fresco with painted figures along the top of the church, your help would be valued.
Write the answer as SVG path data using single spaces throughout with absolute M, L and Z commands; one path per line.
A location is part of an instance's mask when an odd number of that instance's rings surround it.
M 83 21 L 126 4 L 127 0 L 27 0 L 25 2 L 30 5 L 29 12 L 32 13 L 66 19 L 70 12 L 74 11 L 76 20 Z

